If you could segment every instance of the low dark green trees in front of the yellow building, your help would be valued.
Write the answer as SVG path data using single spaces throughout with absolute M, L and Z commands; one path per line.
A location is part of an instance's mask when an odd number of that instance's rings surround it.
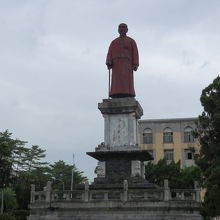
M 157 164 L 148 163 L 145 167 L 145 176 L 149 182 L 162 186 L 164 179 L 169 180 L 171 188 L 194 188 L 194 182 L 201 182 L 201 172 L 198 167 L 180 168 L 180 162 L 166 162 L 159 160 Z

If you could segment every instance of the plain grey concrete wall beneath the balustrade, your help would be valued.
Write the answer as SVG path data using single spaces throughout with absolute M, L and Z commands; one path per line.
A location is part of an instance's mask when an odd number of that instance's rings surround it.
M 40 212 L 40 213 L 39 213 Z M 96 202 L 42 204 L 31 207 L 28 220 L 202 220 L 193 202 Z

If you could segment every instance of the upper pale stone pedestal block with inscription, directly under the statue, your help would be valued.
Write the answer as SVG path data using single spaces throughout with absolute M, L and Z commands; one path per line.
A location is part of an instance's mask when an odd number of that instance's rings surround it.
M 114 150 L 137 145 L 137 120 L 143 110 L 134 98 L 104 99 L 98 104 L 104 117 L 104 143 Z

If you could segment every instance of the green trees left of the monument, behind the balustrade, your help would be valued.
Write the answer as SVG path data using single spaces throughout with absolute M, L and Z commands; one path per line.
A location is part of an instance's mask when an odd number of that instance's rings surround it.
M 13 139 L 8 130 L 0 132 L 0 207 L 3 207 L 0 220 L 26 219 L 31 184 L 35 184 L 36 190 L 42 190 L 47 181 L 52 181 L 53 188 L 70 190 L 72 170 L 73 185 L 87 180 L 75 165 L 62 160 L 44 162 L 45 150 L 37 145 L 27 147 L 26 144 Z

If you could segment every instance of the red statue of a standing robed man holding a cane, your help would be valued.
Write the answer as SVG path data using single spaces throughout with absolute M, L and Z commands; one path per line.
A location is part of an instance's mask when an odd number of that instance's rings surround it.
M 134 97 L 133 70 L 139 66 L 138 49 L 135 41 L 126 36 L 128 27 L 122 23 L 118 26 L 120 36 L 109 46 L 106 65 L 112 69 L 110 97 Z

